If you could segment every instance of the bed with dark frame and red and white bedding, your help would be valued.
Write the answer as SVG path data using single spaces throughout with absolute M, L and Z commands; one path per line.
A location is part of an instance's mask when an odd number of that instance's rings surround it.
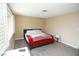
M 41 29 L 24 29 L 24 39 L 30 50 L 54 42 L 54 36 Z

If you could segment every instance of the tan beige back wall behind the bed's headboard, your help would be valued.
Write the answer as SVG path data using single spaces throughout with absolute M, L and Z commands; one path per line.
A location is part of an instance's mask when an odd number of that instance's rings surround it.
M 36 17 L 15 16 L 15 37 L 23 38 L 23 29 L 41 28 L 44 30 L 45 20 Z

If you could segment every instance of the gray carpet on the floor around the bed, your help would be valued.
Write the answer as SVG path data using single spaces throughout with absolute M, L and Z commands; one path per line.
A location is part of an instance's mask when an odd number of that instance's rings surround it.
M 15 49 L 27 47 L 24 40 L 15 41 Z M 30 51 L 32 56 L 79 56 L 79 50 L 60 42 L 34 48 Z

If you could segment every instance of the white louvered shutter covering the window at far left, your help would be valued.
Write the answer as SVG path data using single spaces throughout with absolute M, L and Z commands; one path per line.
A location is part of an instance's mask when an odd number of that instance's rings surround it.
M 7 5 L 0 3 L 0 55 L 8 48 Z

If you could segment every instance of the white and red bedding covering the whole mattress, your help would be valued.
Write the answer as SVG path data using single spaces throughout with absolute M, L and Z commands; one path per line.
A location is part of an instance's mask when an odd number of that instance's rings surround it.
M 25 33 L 25 38 L 30 46 L 38 46 L 48 42 L 54 42 L 54 36 L 41 30 L 31 30 Z

